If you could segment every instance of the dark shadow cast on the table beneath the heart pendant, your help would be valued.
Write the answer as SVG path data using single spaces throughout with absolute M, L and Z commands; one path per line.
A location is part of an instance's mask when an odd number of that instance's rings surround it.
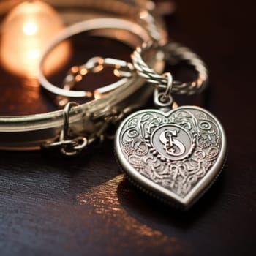
M 189 230 L 221 200 L 224 183 L 225 177 L 219 176 L 209 191 L 187 211 L 167 206 L 146 195 L 130 184 L 127 178 L 124 178 L 119 184 L 117 195 L 125 211 L 138 221 L 145 222 L 146 225 L 154 226 L 157 223 L 157 228 L 172 226 L 181 230 Z M 168 230 L 168 228 L 164 229 Z

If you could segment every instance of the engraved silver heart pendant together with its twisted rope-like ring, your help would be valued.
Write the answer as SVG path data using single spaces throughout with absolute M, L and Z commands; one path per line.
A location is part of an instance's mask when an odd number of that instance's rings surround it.
M 170 72 L 161 75 L 148 67 L 141 55 L 146 48 L 148 45 L 137 48 L 132 61 L 138 75 L 154 86 L 158 109 L 140 110 L 122 121 L 116 132 L 116 158 L 136 187 L 187 209 L 206 192 L 225 164 L 225 131 L 208 110 L 173 105 L 174 92 L 191 94 L 205 87 L 208 75 L 203 61 L 180 45 L 163 47 L 165 59 L 176 51 L 178 61 L 186 61 L 197 72 L 195 81 L 176 83 Z

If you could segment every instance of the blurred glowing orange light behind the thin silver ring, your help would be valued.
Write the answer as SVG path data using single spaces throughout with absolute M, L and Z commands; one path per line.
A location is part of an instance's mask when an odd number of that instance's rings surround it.
M 12 9 L 1 28 L 0 59 L 9 72 L 36 77 L 38 62 L 50 39 L 63 29 L 58 13 L 42 1 L 25 1 Z M 61 44 L 51 53 L 46 72 L 67 61 L 69 45 Z

